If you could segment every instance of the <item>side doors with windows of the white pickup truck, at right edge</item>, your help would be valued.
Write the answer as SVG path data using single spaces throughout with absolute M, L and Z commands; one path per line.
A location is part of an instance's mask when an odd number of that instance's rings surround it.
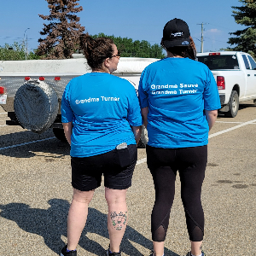
M 247 86 L 246 86 L 246 97 L 251 97 L 256 95 L 256 63 L 250 55 L 242 55 L 246 70 Z

